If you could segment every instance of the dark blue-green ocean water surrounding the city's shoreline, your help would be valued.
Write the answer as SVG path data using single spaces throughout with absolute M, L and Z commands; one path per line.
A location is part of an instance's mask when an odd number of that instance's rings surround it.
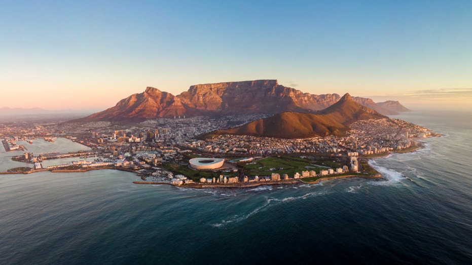
M 445 136 L 372 161 L 380 180 L 193 190 L 113 170 L 2 175 L 0 264 L 470 264 L 470 117 L 394 117 Z

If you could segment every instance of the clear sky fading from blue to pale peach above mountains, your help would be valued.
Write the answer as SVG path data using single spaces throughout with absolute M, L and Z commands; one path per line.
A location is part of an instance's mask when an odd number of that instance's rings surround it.
M 277 79 L 472 108 L 472 1 L 0 0 L 0 108 L 103 110 L 151 86 Z

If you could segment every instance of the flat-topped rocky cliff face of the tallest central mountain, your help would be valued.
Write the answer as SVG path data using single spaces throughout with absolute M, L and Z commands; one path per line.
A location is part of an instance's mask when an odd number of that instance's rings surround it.
M 191 86 L 177 96 L 186 105 L 223 114 L 320 110 L 339 95 L 312 95 L 279 85 L 277 80 L 227 82 Z

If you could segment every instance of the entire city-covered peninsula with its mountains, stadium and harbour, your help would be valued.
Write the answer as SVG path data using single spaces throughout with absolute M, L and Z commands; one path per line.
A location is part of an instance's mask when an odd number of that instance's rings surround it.
M 115 169 L 135 172 L 140 178 L 135 183 L 189 187 L 380 177 L 367 159 L 409 152 L 418 148 L 415 139 L 437 136 L 369 107 L 408 110 L 394 101 L 381 103 L 349 94 L 302 93 L 276 80 L 195 85 L 178 96 L 148 87 L 83 119 L 3 125 L 0 138 L 13 149 L 16 142 L 55 137 L 89 148 L 65 154 L 24 149 L 13 159 L 31 167 L 4 173 Z M 75 156 L 80 159 L 42 164 Z

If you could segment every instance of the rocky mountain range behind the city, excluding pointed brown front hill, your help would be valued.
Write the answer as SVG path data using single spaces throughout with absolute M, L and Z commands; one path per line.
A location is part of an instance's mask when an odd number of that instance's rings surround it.
M 174 96 L 148 87 L 143 93 L 120 100 L 114 107 L 76 121 L 143 121 L 174 116 L 275 114 L 286 111 L 316 112 L 340 100 L 338 94 L 313 95 L 279 85 L 277 80 L 225 82 L 191 86 Z M 384 115 L 408 109 L 398 101 L 375 103 L 369 98 L 354 101 Z

